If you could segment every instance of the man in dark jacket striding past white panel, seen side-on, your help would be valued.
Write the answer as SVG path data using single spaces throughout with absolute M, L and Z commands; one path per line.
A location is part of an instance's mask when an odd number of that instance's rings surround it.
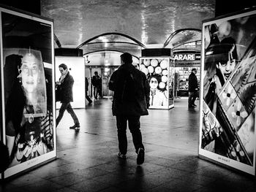
M 59 65 L 59 72 L 61 72 L 61 77 L 59 78 L 59 82 L 56 82 L 56 86 L 59 86 L 59 101 L 61 101 L 61 109 L 59 110 L 59 116 L 56 119 L 56 126 L 59 125 L 61 118 L 64 115 L 65 110 L 69 112 L 72 119 L 74 120 L 75 125 L 69 128 L 75 129 L 75 131 L 79 131 L 80 123 L 77 115 L 75 115 L 74 110 L 70 102 L 73 101 L 73 92 L 72 88 L 74 85 L 74 79 L 67 69 L 66 64 Z

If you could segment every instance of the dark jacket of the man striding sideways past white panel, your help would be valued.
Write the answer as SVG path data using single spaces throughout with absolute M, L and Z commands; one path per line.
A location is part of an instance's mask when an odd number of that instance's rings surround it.
M 67 72 L 67 76 L 64 78 L 63 82 L 59 86 L 59 101 L 61 103 L 69 103 L 73 101 L 73 88 L 74 79 L 69 72 Z

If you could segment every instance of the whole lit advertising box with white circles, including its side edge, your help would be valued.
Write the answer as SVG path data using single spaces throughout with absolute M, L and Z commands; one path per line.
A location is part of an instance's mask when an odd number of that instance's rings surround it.
M 146 74 L 151 85 L 151 77 L 157 81 L 155 97 L 150 93 L 149 109 L 170 110 L 174 107 L 175 63 L 171 57 L 141 57 L 139 69 Z M 153 98 L 157 98 L 154 100 Z

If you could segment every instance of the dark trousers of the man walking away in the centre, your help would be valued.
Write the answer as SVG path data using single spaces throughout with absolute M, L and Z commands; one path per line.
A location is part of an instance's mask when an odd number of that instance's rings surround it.
M 140 147 L 144 149 L 140 132 L 140 116 L 116 115 L 118 148 L 124 155 L 127 154 L 127 121 L 136 153 Z

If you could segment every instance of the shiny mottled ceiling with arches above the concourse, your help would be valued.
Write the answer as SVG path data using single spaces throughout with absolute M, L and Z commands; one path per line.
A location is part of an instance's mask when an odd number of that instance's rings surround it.
M 143 45 L 164 45 L 173 32 L 200 30 L 202 20 L 214 18 L 215 0 L 43 0 L 41 7 L 41 15 L 53 19 L 61 47 L 76 48 L 108 33 L 124 34 Z M 114 35 L 108 37 L 109 42 L 111 38 L 119 41 Z M 95 45 L 99 42 L 92 45 L 94 50 L 102 49 Z M 84 54 L 91 49 L 86 46 L 80 47 Z M 139 57 L 140 48 L 119 41 L 105 49 L 129 51 Z

